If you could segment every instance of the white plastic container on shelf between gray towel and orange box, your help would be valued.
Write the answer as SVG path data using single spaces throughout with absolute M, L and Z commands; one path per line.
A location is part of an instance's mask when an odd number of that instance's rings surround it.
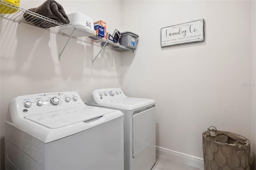
M 70 20 L 70 26 L 77 28 L 79 30 L 88 32 L 94 36 L 96 34 L 96 31 L 94 30 L 94 24 L 93 20 L 79 12 L 74 12 L 71 14 L 68 14 L 68 18 Z

